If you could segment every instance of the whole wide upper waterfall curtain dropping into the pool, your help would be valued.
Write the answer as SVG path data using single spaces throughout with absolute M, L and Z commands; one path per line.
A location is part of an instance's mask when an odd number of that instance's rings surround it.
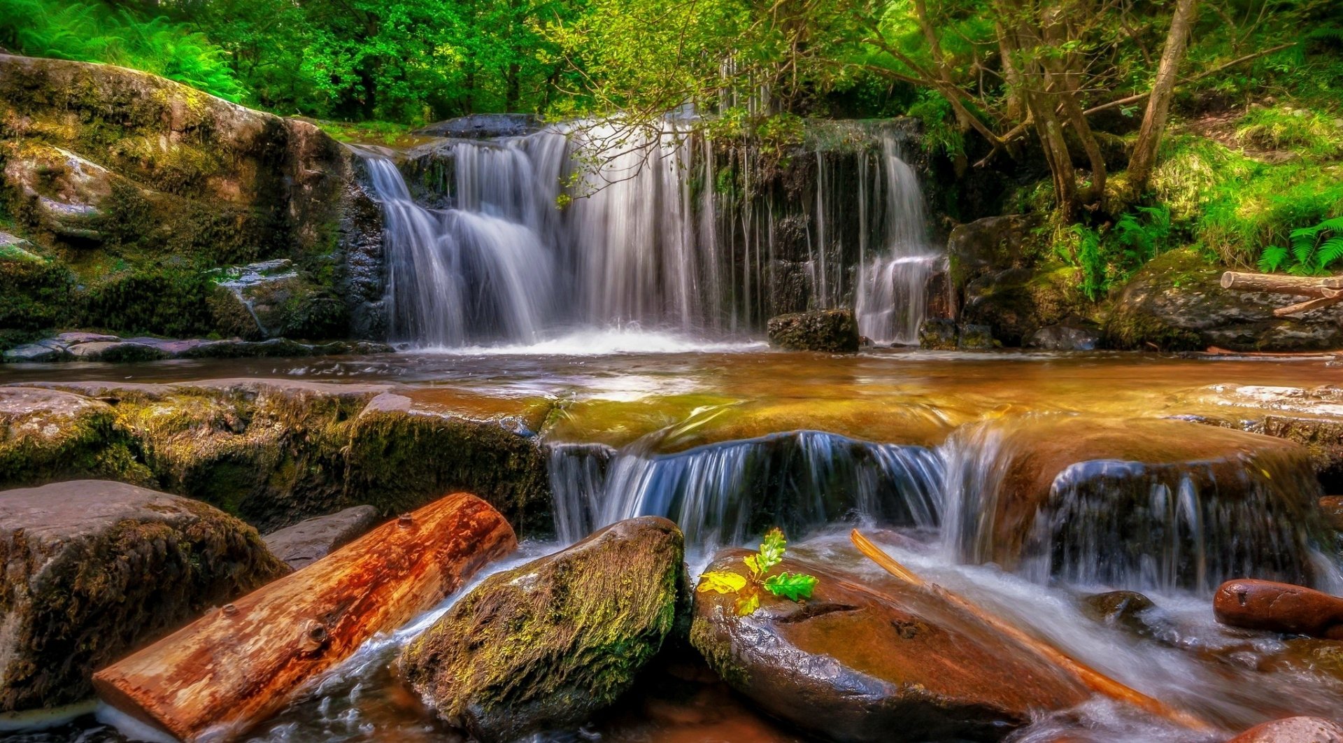
M 673 121 L 441 140 L 402 168 L 357 150 L 385 222 L 391 337 L 445 348 L 594 328 L 721 339 L 772 314 L 855 304 L 861 332 L 913 343 L 941 258 L 900 138 L 862 132 L 880 144 L 815 146 L 804 191 L 778 173 L 761 181 L 755 149 L 723 150 Z

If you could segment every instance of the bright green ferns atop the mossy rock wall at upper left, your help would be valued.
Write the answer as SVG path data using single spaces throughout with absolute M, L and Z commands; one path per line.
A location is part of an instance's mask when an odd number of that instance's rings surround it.
M 167 17 L 144 19 L 97 0 L 0 0 L 0 46 L 32 56 L 107 62 L 239 101 L 243 86 L 224 52 Z

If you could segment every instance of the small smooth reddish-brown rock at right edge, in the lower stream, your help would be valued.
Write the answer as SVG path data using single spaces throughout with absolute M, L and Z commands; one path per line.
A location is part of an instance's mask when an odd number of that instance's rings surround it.
M 1234 627 L 1343 640 L 1343 598 L 1304 586 L 1228 580 L 1213 597 L 1213 613 Z

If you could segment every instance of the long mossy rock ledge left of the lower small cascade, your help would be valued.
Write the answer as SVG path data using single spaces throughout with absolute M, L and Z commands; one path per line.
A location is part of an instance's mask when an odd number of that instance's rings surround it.
M 415 399 L 387 384 L 223 379 L 0 387 L 0 489 L 97 477 L 154 486 L 263 532 L 469 490 L 548 531 L 549 399 Z

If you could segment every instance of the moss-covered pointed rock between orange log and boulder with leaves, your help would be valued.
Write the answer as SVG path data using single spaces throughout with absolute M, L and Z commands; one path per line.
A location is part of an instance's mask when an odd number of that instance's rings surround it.
M 646 516 L 486 579 L 400 657 L 445 722 L 481 740 L 573 727 L 634 684 L 684 590 L 676 524 Z

